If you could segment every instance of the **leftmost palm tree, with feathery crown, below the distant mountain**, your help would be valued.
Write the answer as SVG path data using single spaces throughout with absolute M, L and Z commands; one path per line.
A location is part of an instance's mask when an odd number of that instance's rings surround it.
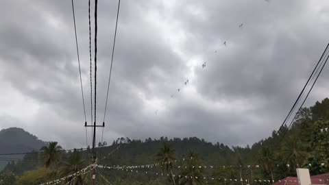
M 40 156 L 45 161 L 43 165 L 46 168 L 49 168 L 51 164 L 56 163 L 60 159 L 61 153 L 59 151 L 62 150 L 62 147 L 57 144 L 57 142 L 50 142 L 48 146 L 43 146 L 40 149 L 42 151 Z

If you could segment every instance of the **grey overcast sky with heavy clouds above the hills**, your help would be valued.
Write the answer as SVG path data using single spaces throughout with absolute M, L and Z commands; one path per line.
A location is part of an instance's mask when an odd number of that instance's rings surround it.
M 99 124 L 117 3 L 98 4 Z M 71 1 L 2 1 L 0 17 L 0 129 L 85 147 Z M 88 1 L 75 1 L 75 18 L 90 124 Z M 328 43 L 328 20 L 326 0 L 121 1 L 104 140 L 197 136 L 244 146 L 270 136 Z M 93 42 L 92 50 L 94 58 Z M 306 106 L 328 97 L 328 68 Z

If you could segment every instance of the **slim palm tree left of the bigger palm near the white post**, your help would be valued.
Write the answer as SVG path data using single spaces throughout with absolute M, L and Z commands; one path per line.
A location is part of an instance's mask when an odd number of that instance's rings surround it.
M 274 156 L 273 152 L 269 147 L 263 147 L 260 150 L 260 158 L 259 161 L 263 164 L 264 171 L 271 175 L 272 182 L 273 182 L 273 163 L 274 163 Z

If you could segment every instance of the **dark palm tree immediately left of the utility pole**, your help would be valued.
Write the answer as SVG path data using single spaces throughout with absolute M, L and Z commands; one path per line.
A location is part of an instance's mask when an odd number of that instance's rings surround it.
M 61 175 L 69 175 L 81 171 L 84 169 L 84 163 L 85 160 L 82 159 L 80 152 L 74 149 L 69 158 L 62 162 Z M 70 185 L 86 184 L 82 175 L 69 177 L 66 179 L 66 182 L 70 182 Z

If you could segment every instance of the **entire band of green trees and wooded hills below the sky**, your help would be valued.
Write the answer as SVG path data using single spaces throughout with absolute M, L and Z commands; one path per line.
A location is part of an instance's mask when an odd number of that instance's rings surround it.
M 98 164 L 160 165 L 134 170 L 97 168 L 97 184 L 243 185 L 249 182 L 260 185 L 270 184 L 264 180 L 276 181 L 296 175 L 297 167 L 307 167 L 312 175 L 327 173 L 329 130 L 322 130 L 326 127 L 329 127 L 329 99 L 303 108 L 291 127 L 285 125 L 279 133 L 273 131 L 272 136 L 254 143 L 252 147 L 214 145 L 195 137 L 147 138 L 143 141 L 118 138 L 111 146 L 97 149 Z M 103 145 L 106 143 L 99 143 L 99 146 Z M 119 145 L 118 150 L 107 155 Z M 88 165 L 86 151 L 55 152 L 58 149 L 57 143 L 49 143 L 42 147 L 45 151 L 42 155 L 29 154 L 19 162 L 10 162 L 0 176 L 0 184 L 5 181 L 11 181 L 10 184 L 38 184 L 75 173 Z M 104 156 L 107 158 L 102 159 Z M 88 179 L 88 173 L 79 175 L 71 184 L 86 184 Z

